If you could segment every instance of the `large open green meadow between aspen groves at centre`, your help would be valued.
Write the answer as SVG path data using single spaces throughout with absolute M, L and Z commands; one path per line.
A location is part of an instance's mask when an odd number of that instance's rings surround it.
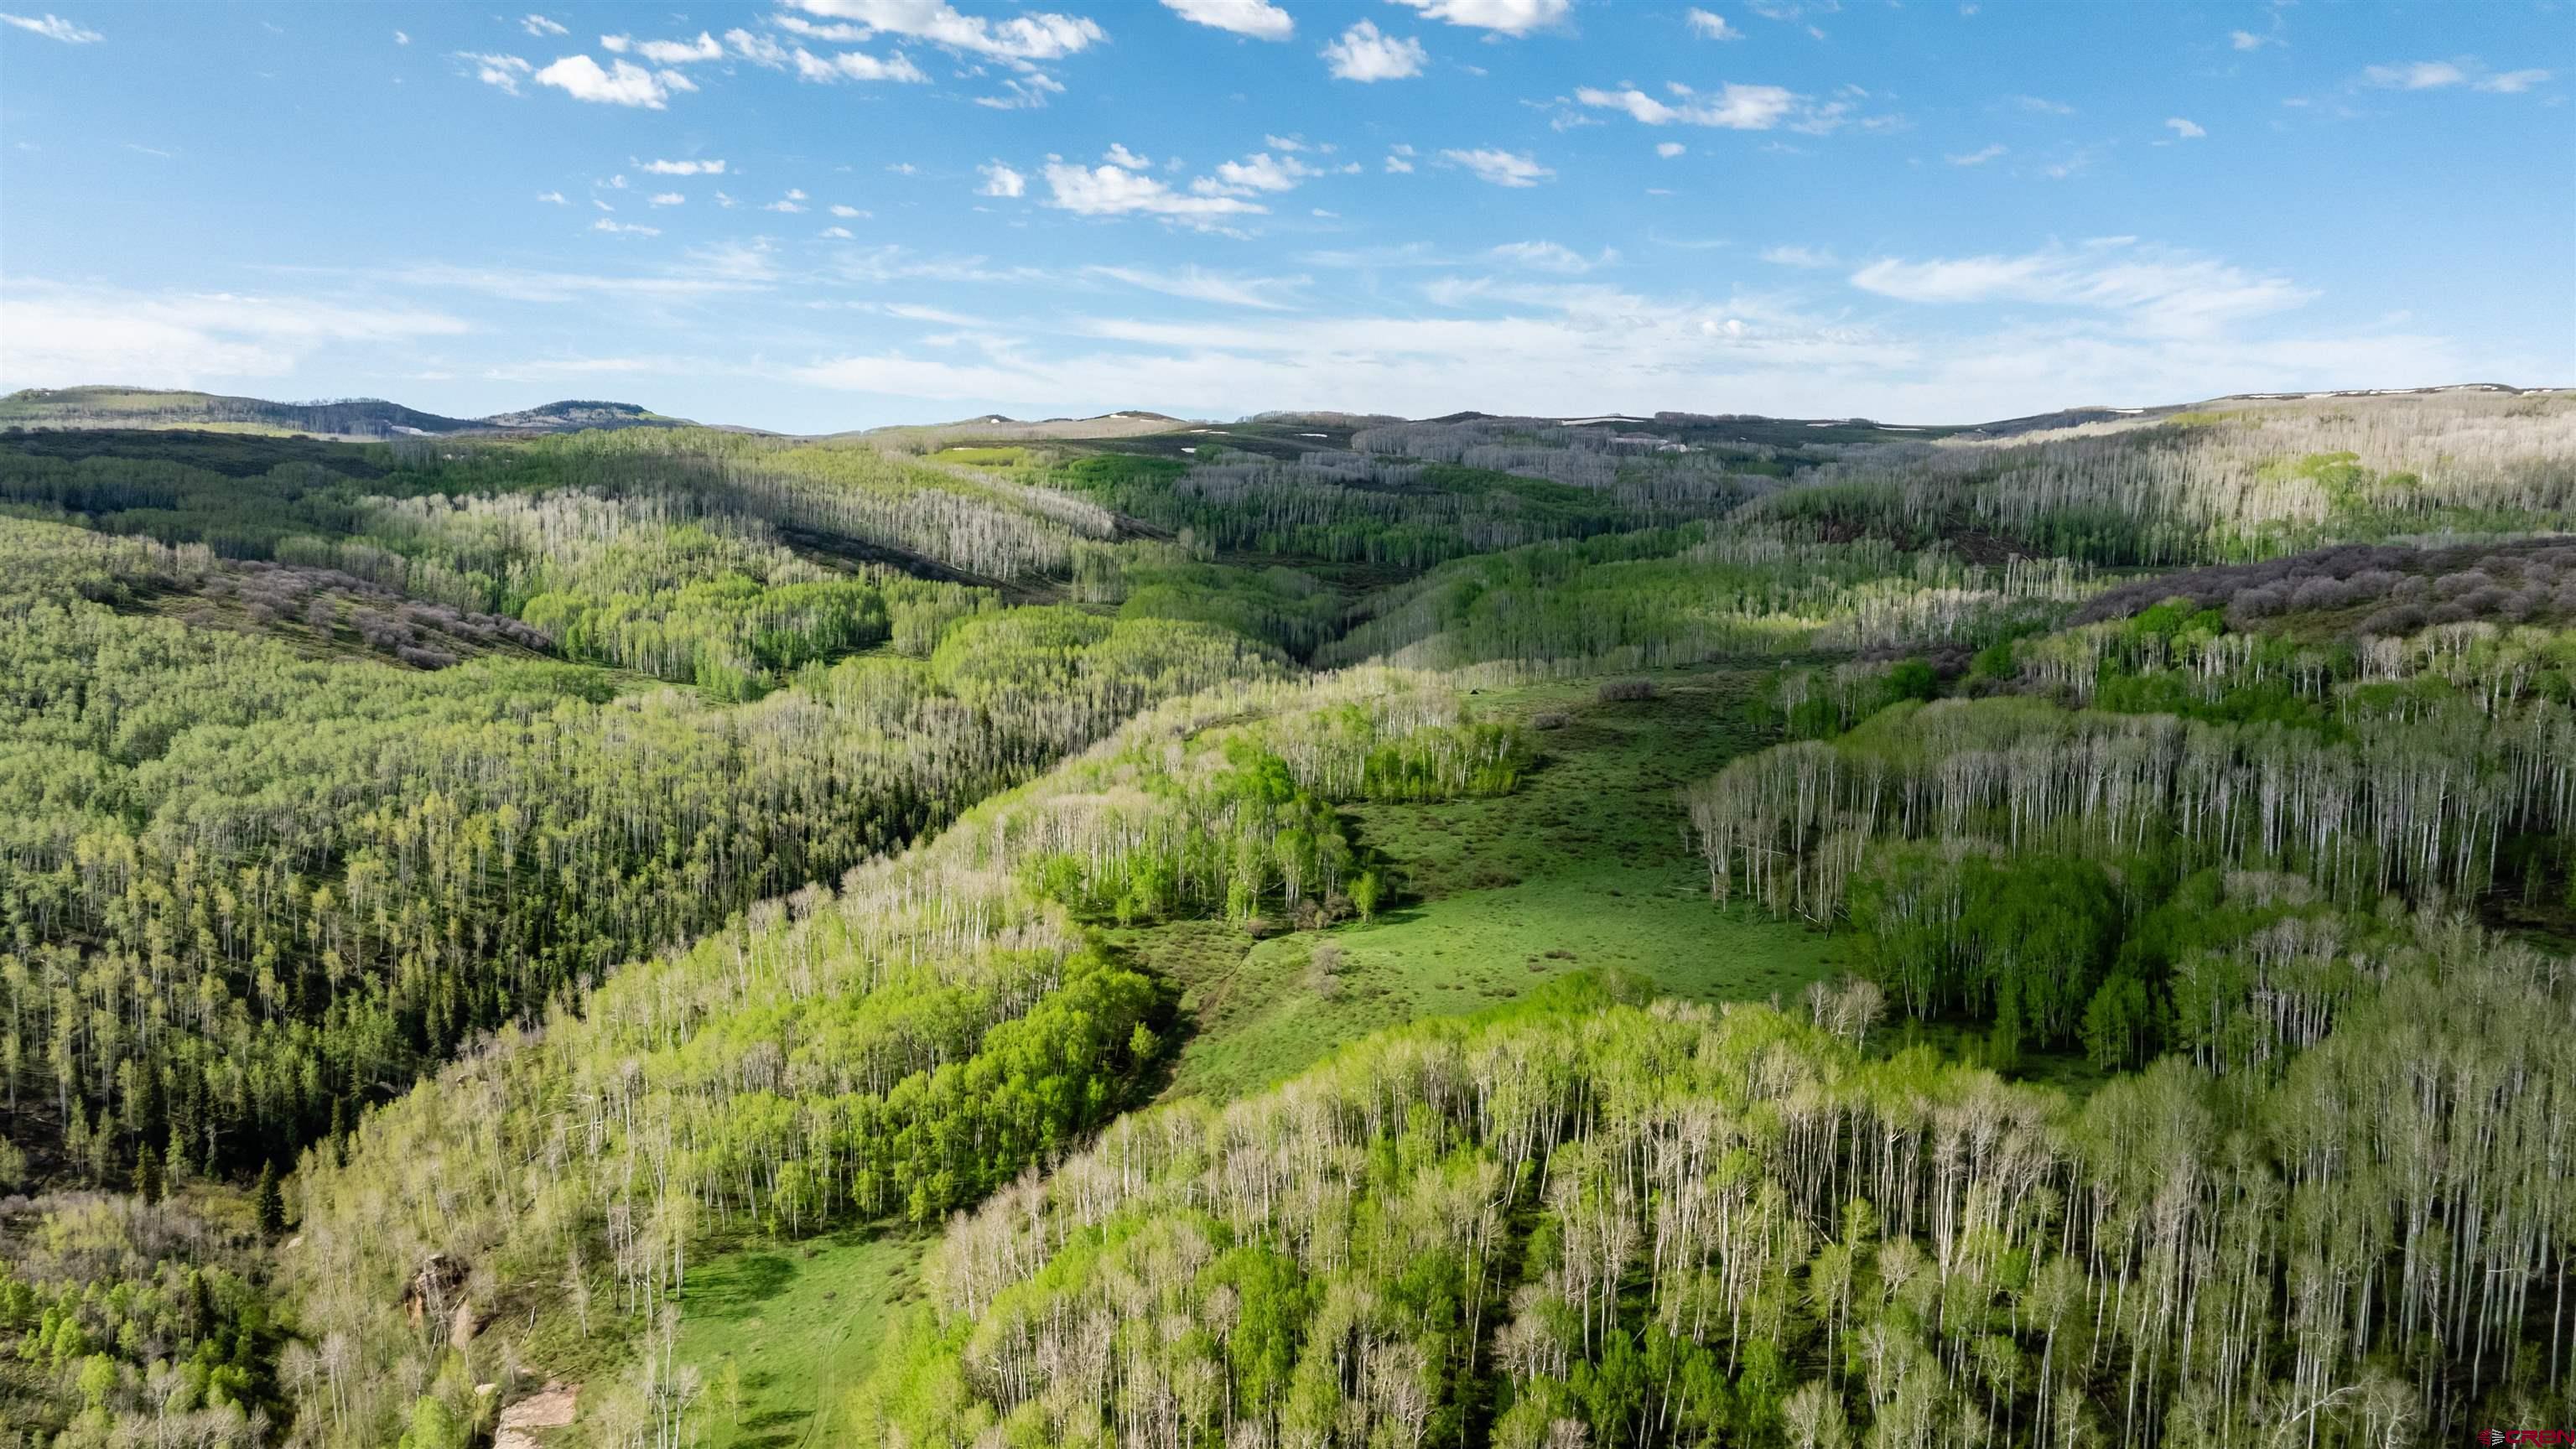
M 1113 931 L 1185 990 L 1170 1093 L 1242 1096 L 1345 1042 L 1422 1016 L 1481 1011 L 1582 967 L 1623 967 L 1687 1000 L 1795 1000 L 1834 941 L 1708 900 L 1677 789 L 1759 748 L 1744 701 L 1759 673 L 1664 673 L 1649 701 L 1595 701 L 1595 681 L 1486 691 L 1492 714 L 1566 714 L 1520 792 L 1363 804 L 1368 846 L 1404 897 L 1368 923 L 1255 941 L 1224 923 Z M 1319 949 L 1337 954 L 1324 972 Z

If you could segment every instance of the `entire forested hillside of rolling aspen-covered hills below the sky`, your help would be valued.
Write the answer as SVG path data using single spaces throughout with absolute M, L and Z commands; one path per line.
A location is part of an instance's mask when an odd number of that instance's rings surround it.
M 2571 394 L 64 407 L 0 433 L 18 1444 L 2576 1405 Z

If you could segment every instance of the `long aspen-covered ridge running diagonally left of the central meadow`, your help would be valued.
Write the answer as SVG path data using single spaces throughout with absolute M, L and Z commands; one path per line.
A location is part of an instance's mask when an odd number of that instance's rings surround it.
M 371 1364 L 335 1434 L 363 1444 L 407 1413 L 384 1392 L 397 1364 L 435 1374 L 394 1310 L 399 1263 L 430 1250 L 489 1269 L 502 1320 L 562 1305 L 569 1271 L 621 1336 L 685 1294 L 706 1235 L 933 1225 L 1072 1150 L 1149 1085 L 1172 1000 L 1064 900 L 1293 913 L 1332 892 L 1340 804 L 1381 779 L 1504 786 L 1512 740 L 1409 676 L 1198 694 L 837 892 L 634 962 L 541 1031 L 502 1029 L 371 1111 L 345 1165 L 301 1160 L 299 1284 L 363 1287 L 309 1299 L 307 1328 Z M 510 1165 L 531 1158 L 549 1171 Z

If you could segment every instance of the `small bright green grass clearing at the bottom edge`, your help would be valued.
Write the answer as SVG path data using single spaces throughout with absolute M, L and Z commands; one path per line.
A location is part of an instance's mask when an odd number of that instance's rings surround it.
M 744 1245 L 690 1269 L 677 1356 L 706 1374 L 706 1449 L 837 1444 L 842 1397 L 914 1297 L 925 1245 L 848 1232 Z M 739 1369 L 739 1415 L 726 1364 Z

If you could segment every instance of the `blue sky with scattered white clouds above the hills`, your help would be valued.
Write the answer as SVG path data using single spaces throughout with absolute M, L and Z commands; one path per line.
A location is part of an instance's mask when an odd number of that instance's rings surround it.
M 2568 0 L 52 3 L 0 0 L 8 389 L 819 433 L 2576 384 Z

